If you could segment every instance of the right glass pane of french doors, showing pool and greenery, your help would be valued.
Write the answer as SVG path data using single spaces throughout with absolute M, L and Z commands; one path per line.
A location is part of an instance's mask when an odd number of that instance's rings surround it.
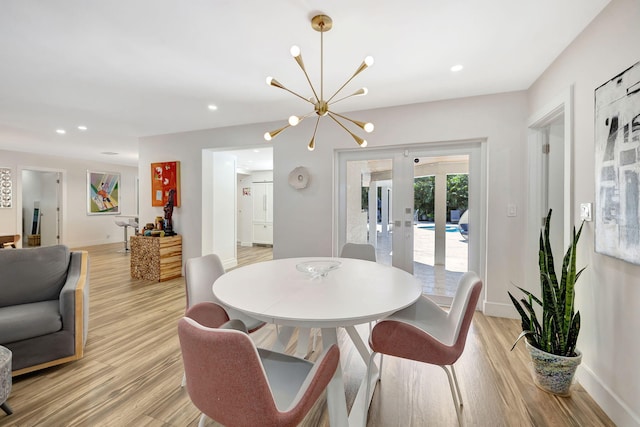
M 468 240 L 460 219 L 468 208 L 469 157 L 416 157 L 414 267 L 425 294 L 452 298 L 468 269 Z

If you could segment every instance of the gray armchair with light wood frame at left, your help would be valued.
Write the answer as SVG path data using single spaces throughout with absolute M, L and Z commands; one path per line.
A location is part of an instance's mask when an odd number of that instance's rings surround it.
M 13 353 L 13 376 L 82 358 L 88 323 L 87 252 L 0 251 L 0 345 Z

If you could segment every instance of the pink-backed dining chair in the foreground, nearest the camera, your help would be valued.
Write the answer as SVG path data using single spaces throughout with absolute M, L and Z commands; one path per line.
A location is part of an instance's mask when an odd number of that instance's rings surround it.
M 238 324 L 207 328 L 188 317 L 178 323 L 187 392 L 202 411 L 199 425 L 205 417 L 227 427 L 298 425 L 333 377 L 338 347 L 325 349 L 314 364 L 256 348 Z

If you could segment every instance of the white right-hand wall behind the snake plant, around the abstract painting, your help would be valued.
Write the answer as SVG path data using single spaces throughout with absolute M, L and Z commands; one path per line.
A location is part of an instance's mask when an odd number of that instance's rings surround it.
M 573 210 L 595 199 L 594 90 L 640 60 L 640 2 L 613 0 L 529 90 L 534 112 L 574 85 Z M 597 212 L 596 212 L 597 215 Z M 580 383 L 620 426 L 640 425 L 640 266 L 594 252 L 583 230 L 577 285 Z

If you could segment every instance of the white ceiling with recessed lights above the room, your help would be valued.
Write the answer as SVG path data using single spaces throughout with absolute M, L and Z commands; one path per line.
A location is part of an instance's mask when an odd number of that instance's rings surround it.
M 141 136 L 284 124 L 309 107 L 265 77 L 311 95 L 318 12 L 327 92 L 376 61 L 338 112 L 525 90 L 608 1 L 2 0 L 0 149 L 136 165 Z

